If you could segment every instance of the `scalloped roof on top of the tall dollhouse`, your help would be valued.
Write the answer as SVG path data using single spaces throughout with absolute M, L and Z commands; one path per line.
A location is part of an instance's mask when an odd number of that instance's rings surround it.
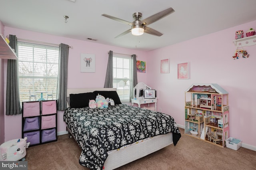
M 190 91 L 204 91 L 204 89 L 215 89 L 215 91 L 219 94 L 228 94 L 228 92 L 226 90 L 224 90 L 222 87 L 220 87 L 220 85 L 218 84 L 192 84 L 187 90 L 186 92 L 190 92 Z

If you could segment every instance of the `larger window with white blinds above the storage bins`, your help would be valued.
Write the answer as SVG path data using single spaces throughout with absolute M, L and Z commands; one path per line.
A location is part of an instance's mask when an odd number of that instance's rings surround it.
M 48 94 L 52 94 L 53 91 L 53 99 L 56 98 L 58 61 L 59 47 L 18 42 L 21 102 L 29 100 L 29 90 L 37 95 L 37 99 L 41 94 L 36 91 L 48 91 Z M 43 98 L 46 99 L 46 93 L 43 93 Z

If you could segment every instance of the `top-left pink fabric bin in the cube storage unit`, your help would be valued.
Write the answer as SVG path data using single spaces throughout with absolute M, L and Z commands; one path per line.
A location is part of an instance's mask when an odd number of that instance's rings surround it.
M 23 117 L 39 116 L 40 102 L 24 102 L 23 103 Z

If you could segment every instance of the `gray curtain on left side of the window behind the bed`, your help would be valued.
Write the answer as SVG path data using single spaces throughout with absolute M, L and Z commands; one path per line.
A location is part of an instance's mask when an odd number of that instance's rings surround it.
M 113 51 L 108 52 L 108 67 L 106 72 L 104 88 L 113 87 Z

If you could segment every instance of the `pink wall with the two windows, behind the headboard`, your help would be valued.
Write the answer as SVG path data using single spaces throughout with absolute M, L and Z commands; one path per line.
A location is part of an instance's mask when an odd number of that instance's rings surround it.
M 17 38 L 34 40 L 39 42 L 47 42 L 60 44 L 65 43 L 73 46 L 69 50 L 68 57 L 68 88 L 102 88 L 104 87 L 106 68 L 108 63 L 108 51 L 112 50 L 115 53 L 136 54 L 138 60 L 147 61 L 146 54 L 143 51 L 114 47 L 110 45 L 102 45 L 99 43 L 74 40 L 70 38 L 52 36 L 38 32 L 30 32 L 16 28 L 5 27 L 4 35 L 16 35 Z M 96 72 L 95 73 L 80 73 L 80 53 L 91 53 L 96 56 Z M 4 70 L 7 67 L 7 61 L 4 63 Z M 138 81 L 146 81 L 146 73 L 138 73 Z M 6 79 L 6 74 L 4 74 Z M 1 85 L 4 83 L 1 82 Z M 6 84 L 4 84 L 6 90 Z M 5 113 L 5 111 L 4 111 Z M 5 141 L 20 138 L 22 119 L 21 115 L 4 116 L 5 119 Z M 58 111 L 58 134 L 66 132 L 66 124 L 63 121 L 63 111 Z M 13 130 L 10 130 L 13 129 Z M 14 130 L 20 129 L 20 130 Z

